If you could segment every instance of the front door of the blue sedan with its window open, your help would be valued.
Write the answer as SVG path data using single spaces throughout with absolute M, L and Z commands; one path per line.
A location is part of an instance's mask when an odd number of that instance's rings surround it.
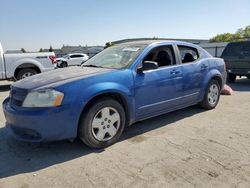
M 157 62 L 159 68 L 135 75 L 136 118 L 144 119 L 177 108 L 182 96 L 182 70 L 176 65 L 172 46 L 153 49 L 143 60 Z M 165 64 L 164 64 L 165 63 Z

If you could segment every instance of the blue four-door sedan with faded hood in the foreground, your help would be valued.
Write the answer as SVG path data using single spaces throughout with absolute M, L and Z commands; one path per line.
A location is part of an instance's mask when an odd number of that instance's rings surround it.
M 137 121 L 195 104 L 215 108 L 225 75 L 224 61 L 194 44 L 123 43 L 81 67 L 14 83 L 3 102 L 6 127 L 22 141 L 78 136 L 89 147 L 107 147 Z

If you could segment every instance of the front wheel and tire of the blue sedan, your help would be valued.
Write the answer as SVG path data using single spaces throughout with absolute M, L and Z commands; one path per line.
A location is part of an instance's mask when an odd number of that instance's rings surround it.
M 83 112 L 78 135 L 91 148 L 108 147 L 118 141 L 125 122 L 122 105 L 111 98 L 102 98 Z

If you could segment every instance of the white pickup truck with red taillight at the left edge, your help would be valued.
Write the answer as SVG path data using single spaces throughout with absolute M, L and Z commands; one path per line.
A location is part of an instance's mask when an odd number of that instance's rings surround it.
M 4 54 L 0 43 L 0 80 L 21 80 L 55 67 L 54 52 Z

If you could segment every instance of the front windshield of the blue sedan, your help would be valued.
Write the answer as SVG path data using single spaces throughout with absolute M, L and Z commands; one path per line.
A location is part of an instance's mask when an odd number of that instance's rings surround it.
M 145 45 L 118 45 L 109 47 L 89 59 L 82 66 L 121 69 L 130 65 Z

